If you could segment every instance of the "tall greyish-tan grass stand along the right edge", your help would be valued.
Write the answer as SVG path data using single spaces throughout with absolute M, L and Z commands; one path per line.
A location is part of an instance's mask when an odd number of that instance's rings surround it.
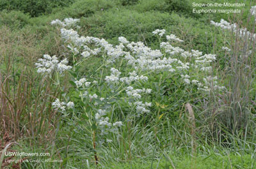
M 237 29 L 250 27 L 251 33 L 254 33 L 255 22 L 252 16 L 248 16 L 246 24 L 239 15 L 235 15 L 234 20 L 237 20 Z M 210 98 L 204 102 L 205 110 L 202 115 L 207 126 L 204 132 L 209 132 L 216 142 L 230 145 L 234 136 L 244 138 L 254 133 L 252 103 L 255 101 L 255 39 L 248 35 L 241 37 L 241 33 L 233 31 L 220 33 L 225 37 L 223 44 L 230 47 L 230 52 L 225 52 L 225 68 L 221 69 L 223 66 L 219 62 L 215 69 L 226 84 L 227 92 L 212 91 Z M 221 53 L 220 50 L 216 52 Z

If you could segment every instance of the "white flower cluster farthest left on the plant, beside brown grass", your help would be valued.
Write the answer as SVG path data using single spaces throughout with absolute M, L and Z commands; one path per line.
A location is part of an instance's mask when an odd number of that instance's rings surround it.
M 50 55 L 44 55 L 44 59 L 38 59 L 36 62 L 36 68 L 38 68 L 38 73 L 51 73 L 52 71 L 58 71 L 62 73 L 63 71 L 70 70 L 72 66 L 67 66 L 67 59 L 58 61 L 58 58 Z

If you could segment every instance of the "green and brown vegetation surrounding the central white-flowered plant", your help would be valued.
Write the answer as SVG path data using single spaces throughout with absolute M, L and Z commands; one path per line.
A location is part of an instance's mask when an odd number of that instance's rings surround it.
M 239 1 L 245 3 L 240 15 L 192 13 L 193 2 L 224 1 L 0 1 L 0 150 L 10 142 L 17 142 L 10 149 L 50 152 L 52 159 L 63 160 L 61 163 L 3 163 L 3 167 L 255 168 L 255 54 L 248 61 L 252 68 L 250 75 L 246 74 L 246 66 L 232 62 L 221 52 L 221 47 L 227 44 L 223 38 L 227 34 L 210 24 L 211 20 L 220 22 L 224 18 L 255 32 L 253 19 L 248 19 L 250 6 L 255 2 Z M 236 0 L 228 2 L 236 3 Z M 44 54 L 65 56 L 67 48 L 63 47 L 58 29 L 50 23 L 67 17 L 81 19 L 79 34 L 104 38 L 114 45 L 119 36 L 124 36 L 129 41 L 143 41 L 148 47 L 157 48 L 159 40 L 152 36 L 152 31 L 166 29 L 167 33 L 184 40 L 179 46 L 184 50 L 217 54 L 217 61 L 212 65 L 214 72 L 223 77 L 221 84 L 228 86 L 231 94 L 185 94 L 184 87 L 174 85 L 175 78 L 164 81 L 164 87 L 158 89 L 161 94 L 152 101 L 152 112 L 144 120 L 127 122 L 120 135 L 112 135 L 113 142 L 97 152 L 100 163 L 96 166 L 94 152 L 88 146 L 92 143 L 84 129 L 74 128 L 77 121 L 62 118 L 51 108 L 52 101 L 62 91 L 52 87 L 51 80 L 42 78 L 35 69 L 35 62 Z M 88 59 L 81 65 L 80 75 L 95 72 L 99 62 L 99 57 Z M 250 82 L 243 79 L 247 76 Z M 63 78 L 67 91 L 69 78 L 68 75 Z M 156 76 L 152 82 L 157 84 L 159 79 Z M 195 126 L 189 120 L 186 103 L 193 107 Z M 241 112 L 243 121 L 236 119 Z

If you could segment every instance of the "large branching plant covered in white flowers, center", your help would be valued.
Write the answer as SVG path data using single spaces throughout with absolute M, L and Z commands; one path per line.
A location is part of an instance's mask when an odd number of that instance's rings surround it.
M 166 41 L 162 41 L 166 33 L 164 29 L 152 32 L 160 41 L 159 49 L 153 50 L 140 41 L 130 42 L 122 36 L 118 38 L 119 44 L 114 46 L 104 39 L 79 36 L 74 29 L 66 29 L 76 27 L 78 21 L 68 18 L 64 22 L 54 20 L 51 23 L 61 26 L 61 37 L 72 56 L 69 61 L 72 66 L 68 66 L 67 59 L 59 62 L 56 56 L 49 55 L 39 59 L 36 66 L 38 73 L 46 76 L 52 71 L 57 75 L 64 71 L 70 73 L 72 89 L 62 94 L 65 101 L 56 98 L 52 107 L 63 117 L 76 119 L 92 135 L 95 150 L 103 143 L 112 142 L 109 133 L 116 133 L 125 121 L 136 121 L 141 115 L 150 114 L 153 105 L 150 95 L 159 95 L 157 89 L 166 79 L 176 78 L 185 91 L 225 90 L 218 85 L 218 78 L 212 77 L 211 63 L 216 60 L 215 55 L 175 47 L 183 41 L 174 34 L 167 35 Z M 91 75 L 80 75 L 81 64 L 93 56 L 101 57 L 99 68 Z M 159 75 L 164 80 L 159 78 L 159 84 L 153 83 L 152 77 Z M 57 84 L 61 88 L 61 84 Z M 144 87 L 147 84 L 155 84 L 155 87 Z M 114 121 L 113 112 L 125 116 L 123 119 L 126 120 Z

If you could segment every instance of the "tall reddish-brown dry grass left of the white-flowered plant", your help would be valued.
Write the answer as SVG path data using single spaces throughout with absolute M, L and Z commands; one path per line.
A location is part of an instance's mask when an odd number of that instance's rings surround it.
M 8 132 L 14 139 L 26 135 L 49 140 L 58 122 L 49 103 L 60 91 L 50 78 L 35 72 L 35 61 L 45 52 L 44 38 L 8 27 L 1 27 L 0 36 L 0 136 Z M 49 50 L 58 48 L 60 53 L 61 41 L 51 38 L 55 45 Z

